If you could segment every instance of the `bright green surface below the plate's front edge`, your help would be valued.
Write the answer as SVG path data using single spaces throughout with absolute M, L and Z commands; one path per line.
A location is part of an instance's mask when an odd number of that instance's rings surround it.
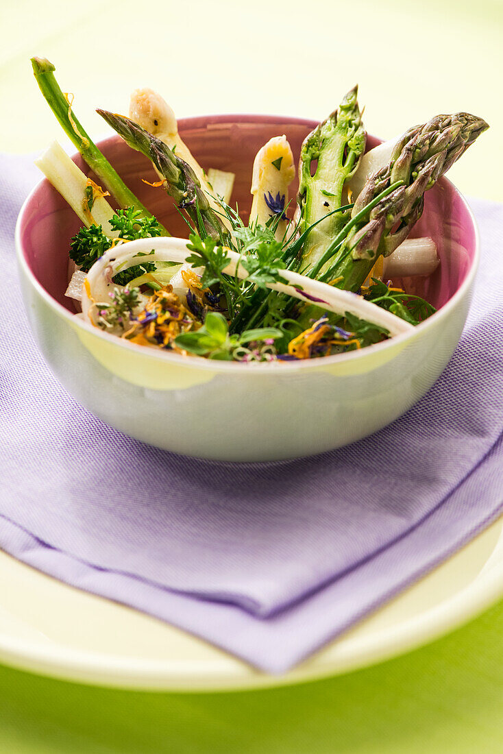
M 113 691 L 0 669 L 12 754 L 492 754 L 503 751 L 503 605 L 347 676 L 234 694 Z

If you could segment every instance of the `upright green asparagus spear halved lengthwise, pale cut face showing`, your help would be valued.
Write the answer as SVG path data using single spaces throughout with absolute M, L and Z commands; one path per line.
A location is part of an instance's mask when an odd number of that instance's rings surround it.
M 357 87 L 354 87 L 345 95 L 339 108 L 311 131 L 302 144 L 298 196 L 301 233 L 317 219 L 341 207 L 345 182 L 357 169 L 366 139 L 357 103 Z M 317 161 L 317 167 L 311 176 L 314 161 Z M 302 253 L 301 267 L 306 274 L 347 220 L 348 213 L 332 214 L 313 228 Z

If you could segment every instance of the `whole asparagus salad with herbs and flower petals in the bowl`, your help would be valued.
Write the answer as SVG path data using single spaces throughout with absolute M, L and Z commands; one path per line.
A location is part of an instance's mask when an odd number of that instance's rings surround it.
M 32 66 L 100 182 L 57 143 L 36 161 L 84 225 L 69 248 L 66 295 L 80 302 L 77 316 L 182 356 L 276 362 L 364 348 L 434 313 L 391 280 L 437 268 L 434 241 L 407 237 L 425 192 L 488 127 L 481 118 L 438 115 L 366 153 L 355 87 L 302 143 L 296 198 L 289 196 L 296 169 L 286 137 L 259 150 L 244 222 L 232 207 L 233 174 L 205 173 L 170 106 L 152 90 L 136 90 L 129 117 L 97 112 L 152 161 L 153 185 L 186 219 L 189 238 L 173 238 L 85 132 L 54 66 L 41 58 Z

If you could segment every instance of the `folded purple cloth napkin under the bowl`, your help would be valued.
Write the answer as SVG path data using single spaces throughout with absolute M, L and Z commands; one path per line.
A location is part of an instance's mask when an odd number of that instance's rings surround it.
M 474 304 L 417 406 L 334 452 L 224 464 L 131 440 L 51 375 L 14 262 L 14 223 L 36 179 L 30 158 L 0 156 L 0 546 L 9 553 L 279 673 L 501 510 L 503 207 L 472 201 L 483 245 Z

